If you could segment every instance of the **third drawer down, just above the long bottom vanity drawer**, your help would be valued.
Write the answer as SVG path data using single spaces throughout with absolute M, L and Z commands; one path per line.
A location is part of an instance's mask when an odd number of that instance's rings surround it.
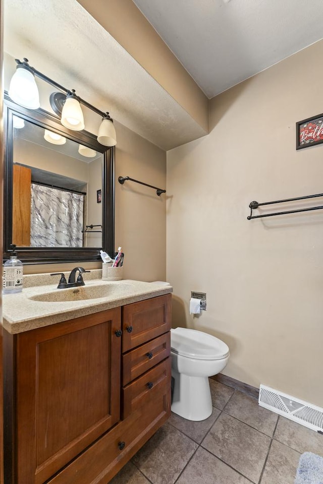
M 160 388 L 166 388 L 166 394 L 171 392 L 170 357 L 122 389 L 123 418 L 127 418 L 139 408 L 144 408 L 150 395 Z

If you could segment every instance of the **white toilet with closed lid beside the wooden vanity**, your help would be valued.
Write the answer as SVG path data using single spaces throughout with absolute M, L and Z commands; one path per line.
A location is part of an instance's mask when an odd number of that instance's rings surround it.
M 212 413 L 208 377 L 220 373 L 229 360 L 220 339 L 187 328 L 171 330 L 172 411 L 188 420 L 204 420 Z

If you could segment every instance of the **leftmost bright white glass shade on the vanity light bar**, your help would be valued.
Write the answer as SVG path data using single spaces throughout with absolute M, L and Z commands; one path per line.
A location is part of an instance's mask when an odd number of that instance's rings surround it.
M 35 77 L 31 71 L 17 66 L 16 72 L 11 78 L 9 96 L 13 101 L 28 109 L 38 109 L 39 93 Z

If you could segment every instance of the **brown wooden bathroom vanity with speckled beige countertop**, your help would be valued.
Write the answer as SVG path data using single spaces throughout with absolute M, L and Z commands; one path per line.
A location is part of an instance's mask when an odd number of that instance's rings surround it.
M 85 288 L 4 297 L 6 482 L 106 484 L 170 415 L 172 288 Z

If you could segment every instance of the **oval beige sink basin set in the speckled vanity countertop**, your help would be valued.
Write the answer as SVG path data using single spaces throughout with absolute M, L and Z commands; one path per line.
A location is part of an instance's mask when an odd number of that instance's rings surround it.
M 127 282 L 118 282 L 97 285 L 97 286 L 81 286 L 71 287 L 69 289 L 56 289 L 55 291 L 44 292 L 42 294 L 34 294 L 28 299 L 32 301 L 41 302 L 64 302 L 64 301 L 83 301 L 88 299 L 103 299 L 111 298 L 113 296 L 120 296 L 127 289 L 132 287 L 132 284 Z

